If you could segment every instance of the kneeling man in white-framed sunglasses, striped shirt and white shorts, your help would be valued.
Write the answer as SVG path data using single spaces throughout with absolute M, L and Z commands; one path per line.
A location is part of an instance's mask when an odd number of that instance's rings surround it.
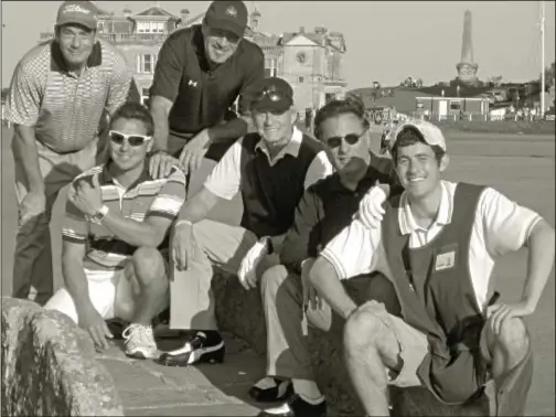
M 126 354 L 157 353 L 151 320 L 168 307 L 168 232 L 185 200 L 185 175 L 149 174 L 154 125 L 143 106 L 113 116 L 108 158 L 77 177 L 62 229 L 65 286 L 46 303 L 88 331 L 97 349 L 111 338 L 105 320 L 129 321 Z

